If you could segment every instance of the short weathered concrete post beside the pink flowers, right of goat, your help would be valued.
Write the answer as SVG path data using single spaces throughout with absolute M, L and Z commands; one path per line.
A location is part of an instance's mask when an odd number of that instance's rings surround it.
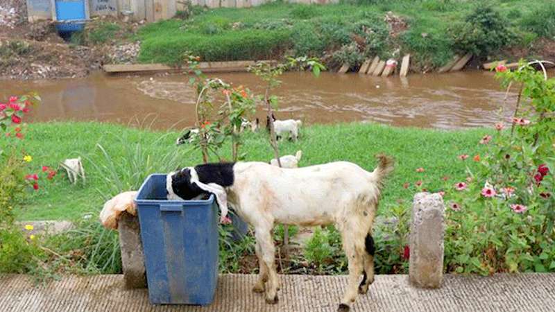
M 444 213 L 443 198 L 438 193 L 417 193 L 414 196 L 409 243 L 409 280 L 415 286 L 441 286 Z

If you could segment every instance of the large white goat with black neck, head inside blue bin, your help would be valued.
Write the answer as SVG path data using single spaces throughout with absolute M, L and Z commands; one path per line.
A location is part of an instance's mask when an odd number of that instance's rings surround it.
M 374 281 L 373 220 L 384 181 L 393 160 L 379 155 L 373 172 L 350 162 L 285 169 L 263 162 L 203 164 L 167 175 L 168 198 L 189 200 L 203 191 L 214 193 L 225 218 L 228 199 L 237 214 L 255 229 L 259 277 L 253 291 L 265 292 L 266 302 L 278 301 L 275 270 L 275 223 L 334 224 L 341 232 L 349 261 L 348 288 L 339 311 L 348 311 L 358 293 Z M 359 278 L 364 277 L 359 284 Z

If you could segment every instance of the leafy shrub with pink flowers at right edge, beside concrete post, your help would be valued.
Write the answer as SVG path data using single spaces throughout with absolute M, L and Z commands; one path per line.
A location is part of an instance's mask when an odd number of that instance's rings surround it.
M 524 64 L 496 71 L 505 87 L 520 85 L 522 103 L 477 140 L 487 152 L 467 166 L 467 180 L 445 184 L 445 265 L 484 275 L 555 271 L 555 80 Z

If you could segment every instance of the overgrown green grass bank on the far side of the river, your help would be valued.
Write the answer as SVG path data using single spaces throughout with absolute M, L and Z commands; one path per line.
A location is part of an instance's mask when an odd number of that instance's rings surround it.
M 539 39 L 555 35 L 555 5 L 543 0 L 357 0 L 325 6 L 276 1 L 255 8 L 195 7 L 187 15 L 140 29 L 139 62 L 176 64 L 190 51 L 206 61 L 287 53 L 356 66 L 370 55 L 412 53 L 413 66 L 425 70 L 455 53 L 482 59 L 543 53 Z

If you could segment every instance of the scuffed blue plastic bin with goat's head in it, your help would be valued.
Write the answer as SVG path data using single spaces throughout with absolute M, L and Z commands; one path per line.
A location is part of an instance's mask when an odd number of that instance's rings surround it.
M 153 174 L 135 202 L 148 297 L 153 304 L 210 304 L 218 279 L 218 216 L 208 200 L 165 200 L 166 175 Z

